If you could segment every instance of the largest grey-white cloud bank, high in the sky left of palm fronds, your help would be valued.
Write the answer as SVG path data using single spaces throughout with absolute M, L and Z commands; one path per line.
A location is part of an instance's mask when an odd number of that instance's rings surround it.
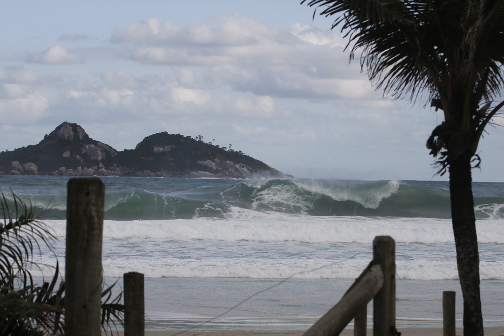
M 190 27 L 151 18 L 117 30 L 111 41 L 129 46 L 134 61 L 199 67 L 209 88 L 325 100 L 362 99 L 373 91 L 358 62 L 348 66 L 346 41 L 309 25 L 278 30 L 239 14 Z M 182 85 L 197 87 L 178 76 Z

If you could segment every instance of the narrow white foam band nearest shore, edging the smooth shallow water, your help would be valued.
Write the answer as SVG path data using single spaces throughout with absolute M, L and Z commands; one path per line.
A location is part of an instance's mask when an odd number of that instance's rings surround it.
M 104 258 L 107 277 L 121 277 L 127 272 L 142 272 L 149 278 L 250 278 L 285 279 L 354 279 L 359 276 L 369 259 L 178 259 L 145 257 Z M 48 261 L 48 260 L 47 260 Z M 326 267 L 323 267 L 325 266 Z M 317 268 L 320 270 L 306 272 Z M 402 280 L 457 280 L 455 261 L 397 260 L 397 279 Z M 65 269 L 61 268 L 61 273 Z M 35 276 L 50 275 L 50 268 L 33 270 Z M 300 274 L 297 274 L 300 273 Z M 480 263 L 481 280 L 504 280 L 504 262 Z

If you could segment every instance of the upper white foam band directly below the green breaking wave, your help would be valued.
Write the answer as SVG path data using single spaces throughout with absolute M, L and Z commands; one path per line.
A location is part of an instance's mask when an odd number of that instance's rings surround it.
M 105 221 L 103 236 L 117 239 L 175 239 L 205 241 L 260 241 L 369 244 L 377 235 L 390 235 L 398 243 L 453 243 L 450 220 L 431 218 L 258 216 L 238 212 L 234 220 Z M 276 216 L 275 216 L 276 215 Z M 64 237 L 65 221 L 47 221 Z M 504 244 L 504 220 L 478 221 L 480 243 Z

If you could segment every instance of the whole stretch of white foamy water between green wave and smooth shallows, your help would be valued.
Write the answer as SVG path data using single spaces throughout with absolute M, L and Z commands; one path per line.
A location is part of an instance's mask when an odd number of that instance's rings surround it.
M 46 222 L 65 255 L 66 221 Z M 504 280 L 504 220 L 477 222 L 481 279 Z M 450 220 L 430 218 L 313 217 L 233 209 L 229 219 L 105 221 L 106 276 L 137 271 L 147 277 L 284 279 L 350 257 L 337 265 L 295 276 L 353 279 L 372 258 L 372 241 L 396 241 L 397 277 L 457 279 Z M 55 264 L 44 252 L 44 262 Z M 38 271 L 37 271 L 38 272 Z M 36 274 L 35 274 L 36 275 Z

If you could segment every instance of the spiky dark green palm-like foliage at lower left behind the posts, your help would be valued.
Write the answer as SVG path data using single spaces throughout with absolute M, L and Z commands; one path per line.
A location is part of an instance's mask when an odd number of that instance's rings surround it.
M 14 206 L 10 207 L 9 204 Z M 32 268 L 41 245 L 52 250 L 56 239 L 41 218 L 45 211 L 35 214 L 31 204 L 12 193 L 12 200 L 0 193 L 0 334 L 2 335 L 63 335 L 65 326 L 65 281 L 56 261 L 51 282 L 37 285 Z M 56 285 L 59 285 L 56 288 Z M 123 324 L 122 293 L 113 297 L 112 286 L 102 291 L 101 324 L 105 332 Z

